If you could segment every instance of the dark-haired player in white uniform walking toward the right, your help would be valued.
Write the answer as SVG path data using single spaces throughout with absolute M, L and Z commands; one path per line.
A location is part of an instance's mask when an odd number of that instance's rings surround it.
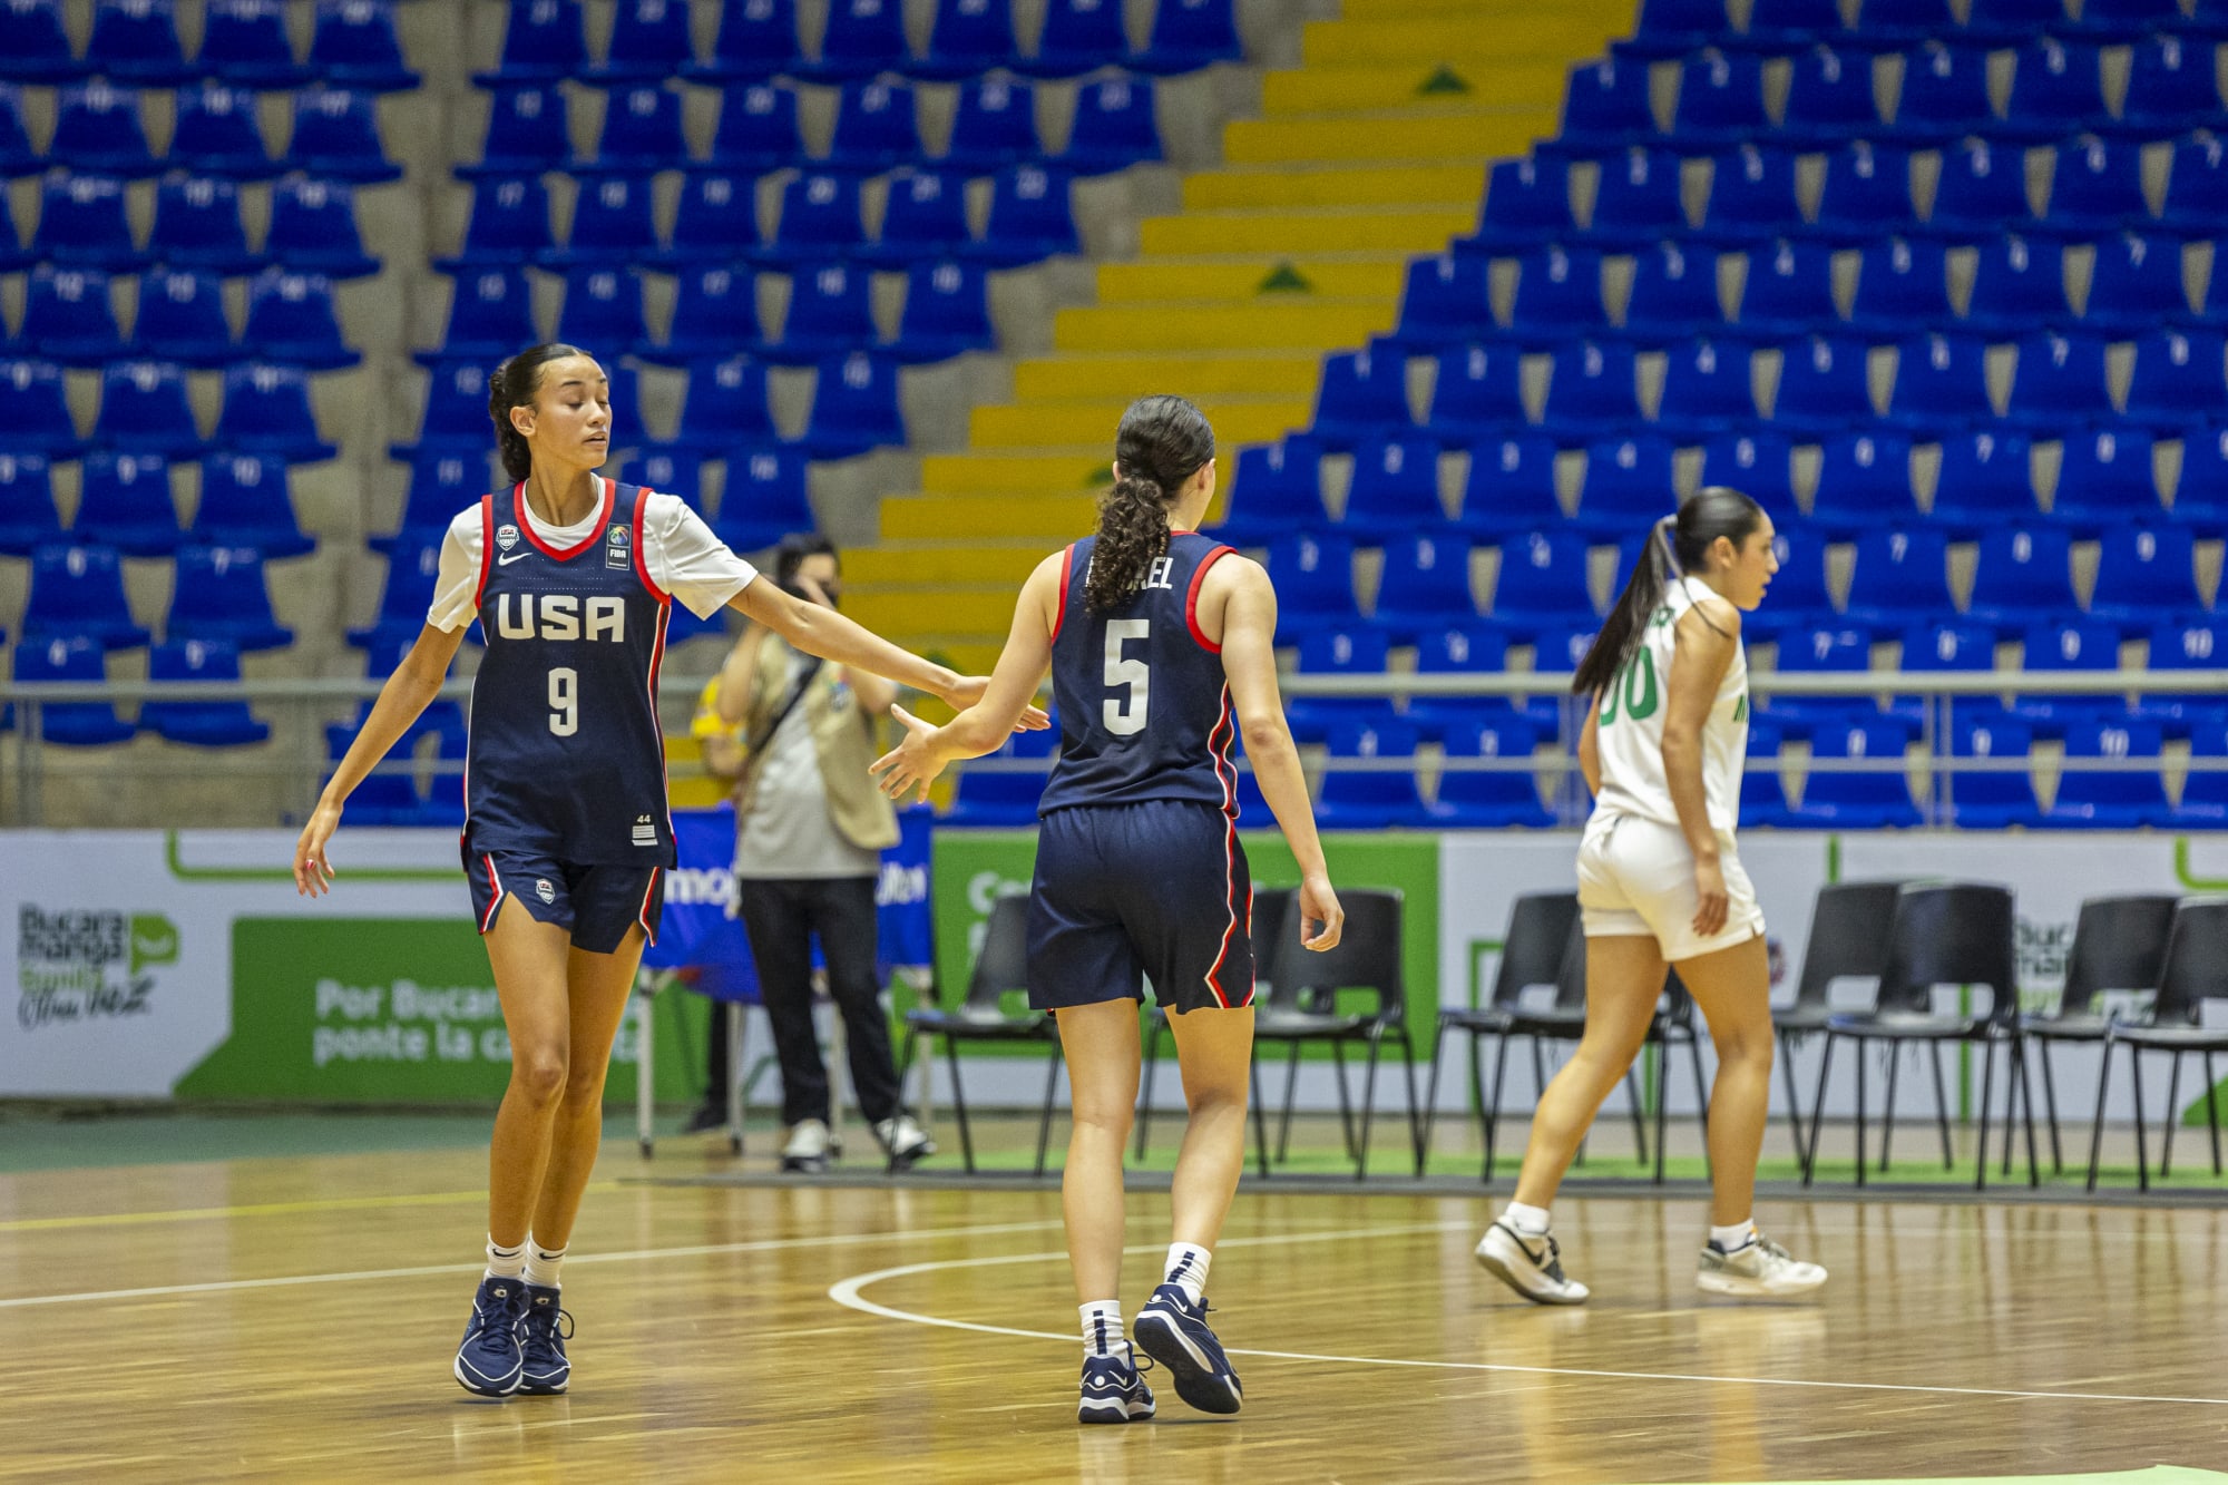
M 1762 506 L 1724 488 L 1660 520 L 1571 685 L 1593 698 L 1577 742 L 1595 796 L 1577 847 L 1586 1035 L 1540 1095 L 1515 1200 L 1477 1244 L 1488 1271 L 1540 1304 L 1586 1300 L 1586 1287 L 1562 1273 L 1548 1202 L 1640 1055 L 1667 963 L 1718 1050 L 1711 1231 L 1696 1284 L 1791 1295 L 1825 1282 L 1825 1269 L 1789 1258 L 1751 1220 L 1771 1095 L 1771 970 L 1733 827 L 1749 747 L 1740 613 L 1762 602 L 1778 571 L 1771 535 Z

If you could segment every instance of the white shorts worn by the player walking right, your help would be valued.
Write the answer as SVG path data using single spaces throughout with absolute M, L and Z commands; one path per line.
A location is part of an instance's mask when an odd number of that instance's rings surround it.
M 1577 908 L 1589 939 L 1651 936 L 1664 959 L 1700 959 L 1747 943 L 1765 932 L 1756 885 L 1740 867 L 1731 836 L 1718 836 L 1718 865 L 1731 899 L 1724 928 L 1693 932 L 1700 896 L 1693 890 L 1693 852 L 1675 825 L 1629 814 L 1593 816 L 1577 845 Z

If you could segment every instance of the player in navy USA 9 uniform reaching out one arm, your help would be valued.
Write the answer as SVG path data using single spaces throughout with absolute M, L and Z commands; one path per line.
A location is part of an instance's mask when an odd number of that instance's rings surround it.
M 597 475 L 610 381 L 573 346 L 488 379 L 508 491 L 457 515 L 426 629 L 325 785 L 294 850 L 296 890 L 330 890 L 348 794 L 441 689 L 477 620 L 463 870 L 510 1032 L 488 1151 L 488 1271 L 457 1351 L 468 1391 L 564 1391 L 559 1264 L 604 1128 L 604 1072 L 657 936 L 675 863 L 657 667 L 666 615 L 737 609 L 793 647 L 967 707 L 985 689 L 791 598 L 673 495 Z M 1043 714 L 1020 718 L 1043 725 Z

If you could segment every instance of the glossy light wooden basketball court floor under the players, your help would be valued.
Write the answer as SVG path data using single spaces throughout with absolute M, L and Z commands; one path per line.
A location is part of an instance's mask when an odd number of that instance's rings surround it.
M 0 1478 L 2228 1481 L 2219 1209 L 1776 1202 L 1834 1282 L 1733 1304 L 1691 1197 L 1566 1197 L 1595 1300 L 1548 1311 L 1473 1264 L 1477 1197 L 1245 1193 L 1245 1411 L 1081 1429 L 1056 1191 L 606 1171 L 573 1394 L 508 1402 L 448 1376 L 475 1153 L 0 1177 Z M 1163 1222 L 1139 1193 L 1132 1307 Z

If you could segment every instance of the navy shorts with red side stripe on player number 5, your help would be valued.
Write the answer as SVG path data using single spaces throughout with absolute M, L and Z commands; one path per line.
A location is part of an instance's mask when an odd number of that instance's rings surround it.
M 1054 809 L 1029 885 L 1029 1006 L 1252 1006 L 1252 874 L 1214 805 Z

